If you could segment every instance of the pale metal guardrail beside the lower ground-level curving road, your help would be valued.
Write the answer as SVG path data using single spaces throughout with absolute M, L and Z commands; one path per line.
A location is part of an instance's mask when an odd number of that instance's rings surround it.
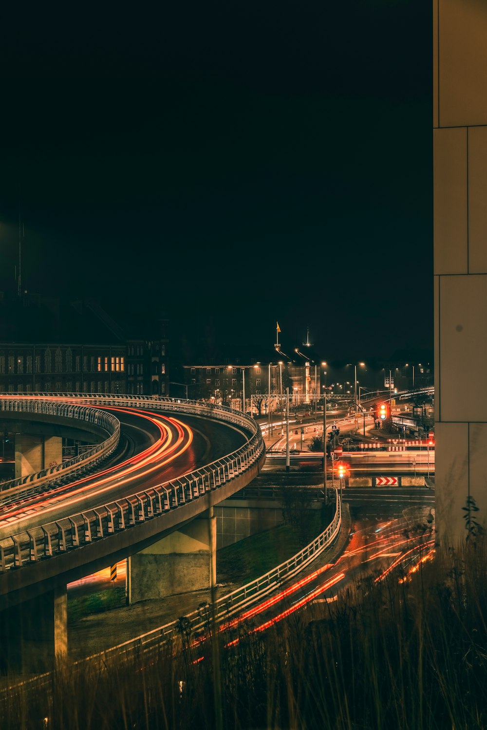
M 226 596 L 221 596 L 220 599 L 215 601 L 215 618 L 217 621 L 221 623 L 226 619 L 230 619 L 251 604 L 255 604 L 268 593 L 275 591 L 283 583 L 283 580 L 288 580 L 304 569 L 337 539 L 341 526 L 342 502 L 339 491 L 335 490 L 335 514 L 329 526 L 292 558 L 272 568 L 269 572 L 256 578 L 256 580 L 242 585 L 235 591 L 227 593 Z M 129 639 L 129 641 L 123 642 L 123 644 L 93 654 L 85 659 L 80 659 L 74 662 L 74 664 L 82 664 L 85 661 L 107 661 L 110 657 L 120 656 L 120 654 L 125 654 L 126 656 L 136 654 L 140 656 L 143 653 L 161 648 L 164 643 L 176 639 L 180 636 L 182 629 L 185 631 L 185 634 L 191 634 L 194 637 L 195 634 L 202 631 L 208 624 L 210 606 L 206 608 L 206 612 L 197 609 L 186 615 L 184 617 L 184 626 L 181 626 L 180 619 L 177 619 L 171 623 L 166 623 L 164 626 L 159 626 L 157 629 L 148 631 L 146 634 L 142 634 L 142 636 Z

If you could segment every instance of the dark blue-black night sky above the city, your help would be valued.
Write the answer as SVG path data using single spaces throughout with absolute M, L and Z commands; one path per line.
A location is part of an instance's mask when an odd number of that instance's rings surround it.
M 4 24 L 1 288 L 20 204 L 22 288 L 195 349 L 432 347 L 430 4 L 99 6 Z

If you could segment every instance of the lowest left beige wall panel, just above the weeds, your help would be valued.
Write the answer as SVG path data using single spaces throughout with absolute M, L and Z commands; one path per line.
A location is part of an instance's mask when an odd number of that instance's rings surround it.
M 456 545 L 466 537 L 468 423 L 437 423 L 434 435 L 435 526 L 440 545 Z

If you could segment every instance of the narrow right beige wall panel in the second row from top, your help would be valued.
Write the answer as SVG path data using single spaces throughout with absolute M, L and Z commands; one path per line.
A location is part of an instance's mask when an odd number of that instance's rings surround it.
M 472 127 L 468 135 L 469 273 L 485 274 L 487 272 L 487 127 Z

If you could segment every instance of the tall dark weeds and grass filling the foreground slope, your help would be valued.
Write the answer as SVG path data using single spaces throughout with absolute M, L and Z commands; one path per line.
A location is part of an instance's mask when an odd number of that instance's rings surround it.
M 262 634 L 234 629 L 218 660 L 223 728 L 487 727 L 486 571 L 478 537 L 437 549 L 411 580 L 362 581 Z M 209 636 L 101 669 L 60 666 L 48 691 L 2 695 L 1 729 L 213 730 L 215 656 Z

